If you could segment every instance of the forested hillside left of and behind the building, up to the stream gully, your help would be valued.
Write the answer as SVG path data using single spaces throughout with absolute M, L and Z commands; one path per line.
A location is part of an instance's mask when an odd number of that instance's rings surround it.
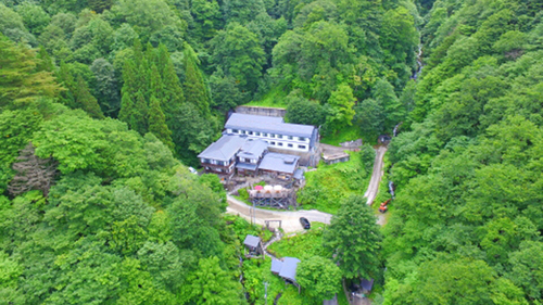
M 265 96 L 325 134 L 389 129 L 420 21 L 408 1 L 0 1 L 0 303 L 245 303 L 222 185 L 179 161 Z

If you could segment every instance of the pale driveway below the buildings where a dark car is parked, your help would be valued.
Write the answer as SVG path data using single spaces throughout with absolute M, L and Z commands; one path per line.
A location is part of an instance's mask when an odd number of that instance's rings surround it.
M 239 215 L 251 221 L 251 209 L 252 206 L 247 205 L 231 195 L 227 195 L 228 207 L 226 212 L 233 215 Z M 318 212 L 316 209 L 311 211 L 296 211 L 296 212 L 281 212 L 281 211 L 270 211 L 254 208 L 254 220 L 256 225 L 265 226 L 264 220 L 282 220 L 281 228 L 286 233 L 303 231 L 302 225 L 300 225 L 300 217 L 305 217 L 310 221 L 319 221 L 329 225 L 332 218 L 331 214 Z M 276 227 L 276 224 L 272 224 Z

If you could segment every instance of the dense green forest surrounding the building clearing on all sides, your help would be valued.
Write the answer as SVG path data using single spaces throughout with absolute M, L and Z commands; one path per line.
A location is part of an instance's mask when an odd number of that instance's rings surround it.
M 375 229 L 349 198 L 324 234 L 339 270 L 307 268 L 376 278 L 378 304 L 541 304 L 542 17 L 536 0 L 0 0 L 0 304 L 252 303 L 223 186 L 186 166 L 264 99 L 325 137 L 403 123 L 388 225 L 351 246 Z

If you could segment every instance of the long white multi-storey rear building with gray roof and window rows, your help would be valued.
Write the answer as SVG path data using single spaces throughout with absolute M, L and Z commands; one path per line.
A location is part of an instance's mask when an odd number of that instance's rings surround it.
M 318 141 L 317 128 L 285 123 L 282 117 L 232 113 L 225 129 L 229 135 L 264 140 L 272 148 L 296 152 L 310 152 Z

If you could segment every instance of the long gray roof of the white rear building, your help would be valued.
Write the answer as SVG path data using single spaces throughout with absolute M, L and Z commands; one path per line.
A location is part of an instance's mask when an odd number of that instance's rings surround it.
M 281 117 L 232 113 L 225 128 L 312 138 L 314 126 L 285 123 Z

